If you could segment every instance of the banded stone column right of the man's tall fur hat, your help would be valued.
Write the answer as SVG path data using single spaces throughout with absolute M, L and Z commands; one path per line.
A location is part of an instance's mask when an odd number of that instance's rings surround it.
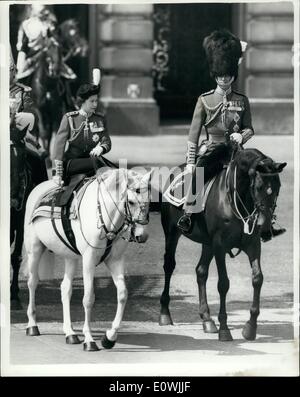
M 257 132 L 294 130 L 293 4 L 248 3 L 245 7 L 246 93 Z

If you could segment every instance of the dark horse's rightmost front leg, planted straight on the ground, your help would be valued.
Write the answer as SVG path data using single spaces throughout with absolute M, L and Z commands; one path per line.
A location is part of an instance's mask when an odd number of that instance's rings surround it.
M 260 267 L 260 242 L 259 247 L 248 249 L 247 255 L 252 268 L 253 301 L 250 309 L 250 320 L 244 325 L 242 335 L 247 340 L 256 338 L 257 317 L 259 316 L 260 291 L 263 284 L 263 274 Z

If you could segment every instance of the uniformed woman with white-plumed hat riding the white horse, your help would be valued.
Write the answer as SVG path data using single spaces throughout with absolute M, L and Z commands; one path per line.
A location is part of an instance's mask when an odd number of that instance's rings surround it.
M 111 149 L 104 114 L 96 112 L 100 92 L 100 70 L 93 70 L 93 84 L 82 84 L 77 91 L 80 109 L 66 113 L 57 132 L 53 150 L 53 180 L 62 186 L 70 180 L 60 199 L 64 205 L 73 188 L 95 168 L 113 166 L 102 157 Z

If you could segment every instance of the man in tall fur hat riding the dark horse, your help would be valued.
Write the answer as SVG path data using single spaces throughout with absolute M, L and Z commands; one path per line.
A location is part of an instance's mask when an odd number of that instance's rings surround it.
M 205 180 L 209 180 L 222 170 L 224 161 L 228 160 L 227 139 L 244 144 L 254 135 L 249 100 L 231 86 L 238 76 L 238 66 L 245 49 L 242 45 L 246 43 L 240 42 L 225 29 L 214 31 L 203 42 L 210 74 L 217 87 L 198 98 L 189 131 L 187 168 L 193 176 L 183 207 L 184 214 L 178 221 L 178 227 L 184 232 L 189 232 L 191 215 L 195 210 L 198 211 L 193 195 L 195 167 L 204 167 Z M 201 142 L 198 151 L 203 127 L 206 140 Z M 262 239 L 268 241 L 284 232 L 285 229 L 274 229 L 272 226 L 272 230 L 264 233 Z

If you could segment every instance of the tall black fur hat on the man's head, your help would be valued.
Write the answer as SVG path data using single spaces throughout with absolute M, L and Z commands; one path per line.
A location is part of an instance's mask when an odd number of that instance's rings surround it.
M 238 76 L 239 60 L 242 57 L 240 40 L 226 29 L 216 30 L 203 41 L 212 78 Z

